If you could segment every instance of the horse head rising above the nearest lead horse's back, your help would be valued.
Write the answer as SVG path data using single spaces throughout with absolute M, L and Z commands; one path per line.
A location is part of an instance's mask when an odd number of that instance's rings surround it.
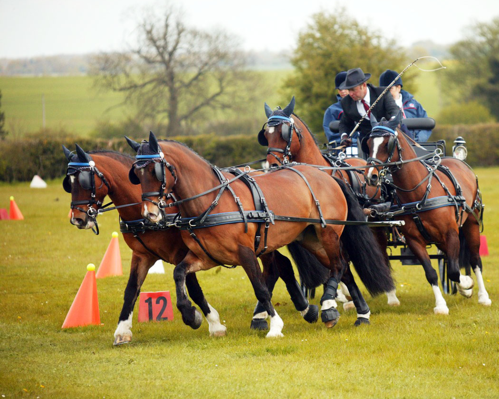
M 301 135 L 295 127 L 295 121 L 291 114 L 294 110 L 294 96 L 289 104 L 281 109 L 277 107 L 271 110 L 265 103 L 265 115 L 267 126 L 258 133 L 258 143 L 267 148 L 267 161 L 270 165 L 285 164 L 289 162 L 291 155 L 299 150 Z M 298 140 L 293 140 L 296 134 Z

